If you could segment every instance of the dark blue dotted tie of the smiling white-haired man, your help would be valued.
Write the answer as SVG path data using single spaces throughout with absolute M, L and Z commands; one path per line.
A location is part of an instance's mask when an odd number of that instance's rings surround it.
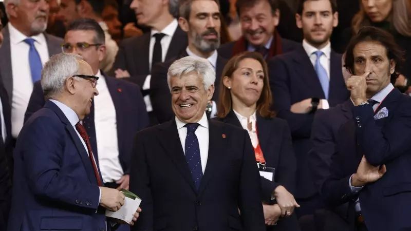
M 185 159 L 187 159 L 187 164 L 189 164 L 191 176 L 193 177 L 197 190 L 200 187 L 202 178 L 200 146 L 197 136 L 194 133 L 198 126 L 199 124 L 197 123 L 184 125 L 184 127 L 187 128 L 187 136 L 185 137 Z

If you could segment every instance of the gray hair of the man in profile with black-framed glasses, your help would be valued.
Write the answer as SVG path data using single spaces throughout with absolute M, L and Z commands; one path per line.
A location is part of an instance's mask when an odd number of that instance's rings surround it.
M 80 60 L 83 57 L 78 54 L 60 53 L 51 56 L 42 70 L 41 84 L 45 98 L 52 99 L 55 94 L 64 91 L 66 79 L 78 74 Z

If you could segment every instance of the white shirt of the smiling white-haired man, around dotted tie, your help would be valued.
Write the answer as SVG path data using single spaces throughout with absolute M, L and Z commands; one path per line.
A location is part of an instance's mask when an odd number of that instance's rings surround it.
M 210 140 L 210 133 L 209 133 L 209 121 L 207 119 L 206 112 L 202 115 L 200 121 L 197 122 L 200 126 L 198 126 L 197 130 L 194 132 L 196 134 L 198 145 L 200 147 L 200 158 L 201 158 L 201 168 L 202 173 L 206 170 L 207 159 L 209 157 L 209 140 Z M 186 123 L 181 122 L 176 117 L 176 124 L 177 124 L 177 131 L 178 136 L 180 137 L 181 146 L 184 151 L 185 155 L 185 137 L 187 136 L 187 128 L 184 127 Z

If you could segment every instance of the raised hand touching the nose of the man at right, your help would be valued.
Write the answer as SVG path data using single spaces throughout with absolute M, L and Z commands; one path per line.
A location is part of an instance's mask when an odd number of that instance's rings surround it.
M 351 91 L 351 100 L 356 106 L 367 101 L 365 94 L 367 82 L 365 80 L 368 75 L 369 72 L 365 72 L 363 75 L 352 75 L 346 82 L 348 90 Z

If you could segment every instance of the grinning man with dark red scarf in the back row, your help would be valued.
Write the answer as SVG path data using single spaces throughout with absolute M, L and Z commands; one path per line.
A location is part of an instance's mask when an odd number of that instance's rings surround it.
M 279 0 L 238 0 L 237 12 L 240 18 L 242 37 L 224 44 L 218 49 L 226 59 L 244 52 L 256 51 L 269 60 L 271 57 L 292 51 L 300 44 L 279 36 L 278 26 L 280 11 Z

